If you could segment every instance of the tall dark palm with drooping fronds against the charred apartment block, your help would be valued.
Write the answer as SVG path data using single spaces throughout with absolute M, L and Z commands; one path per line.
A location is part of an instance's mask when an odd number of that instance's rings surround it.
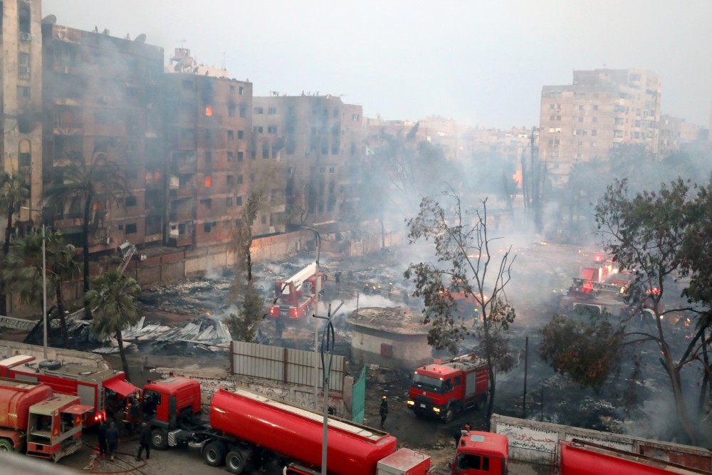
M 68 154 L 68 165 L 62 168 L 62 180 L 46 189 L 46 204 L 56 207 L 59 214 L 81 210 L 82 256 L 84 291 L 89 291 L 89 235 L 100 221 L 96 212 L 98 202 L 120 198 L 128 194 L 127 180 L 122 169 L 104 153 L 94 152 L 92 160 L 85 160 L 78 152 Z M 86 307 L 86 306 L 85 306 Z

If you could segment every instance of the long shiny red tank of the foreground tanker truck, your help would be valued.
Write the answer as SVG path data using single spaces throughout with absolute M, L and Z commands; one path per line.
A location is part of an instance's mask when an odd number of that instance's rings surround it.
M 247 390 L 219 390 L 210 404 L 210 425 L 244 442 L 302 464 L 321 466 L 323 415 Z M 372 475 L 396 450 L 395 437 L 343 419 L 329 419 L 327 465 L 334 475 Z

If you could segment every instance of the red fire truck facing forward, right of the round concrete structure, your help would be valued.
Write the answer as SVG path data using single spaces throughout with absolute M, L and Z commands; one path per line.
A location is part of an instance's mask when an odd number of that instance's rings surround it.
M 489 389 L 487 363 L 474 353 L 468 353 L 418 367 L 413 374 L 407 404 L 417 416 L 439 417 L 451 422 L 458 412 L 477 409 L 483 404 Z

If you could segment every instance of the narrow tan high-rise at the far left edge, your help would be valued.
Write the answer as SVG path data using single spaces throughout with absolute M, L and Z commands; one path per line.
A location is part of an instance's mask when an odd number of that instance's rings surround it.
M 41 208 L 42 197 L 42 41 L 41 1 L 0 2 L 2 62 L 2 139 L 0 172 L 25 179 L 28 207 Z M 28 221 L 35 213 L 21 210 Z M 4 233 L 5 223 L 0 223 Z

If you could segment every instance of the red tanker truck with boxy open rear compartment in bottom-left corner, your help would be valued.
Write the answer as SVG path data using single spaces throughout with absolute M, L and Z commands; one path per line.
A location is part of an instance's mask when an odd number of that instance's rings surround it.
M 81 447 L 90 409 L 47 385 L 0 378 L 0 451 L 58 461 Z

